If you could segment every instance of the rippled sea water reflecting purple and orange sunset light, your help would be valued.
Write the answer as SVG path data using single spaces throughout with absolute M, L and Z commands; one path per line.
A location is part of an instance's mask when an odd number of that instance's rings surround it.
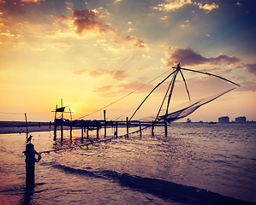
M 27 136 L 0 135 L 0 204 L 256 204 L 256 124 L 171 123 L 167 137 L 155 127 L 88 146 L 80 130 L 31 134 L 38 152 L 73 149 L 42 154 L 26 189 Z

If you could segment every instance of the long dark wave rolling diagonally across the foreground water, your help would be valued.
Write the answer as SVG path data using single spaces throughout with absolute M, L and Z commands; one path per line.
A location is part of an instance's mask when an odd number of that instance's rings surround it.
M 211 204 L 211 205 L 256 205 L 254 202 L 245 202 L 229 196 L 223 196 L 215 192 L 199 189 L 193 186 L 179 185 L 161 179 L 144 178 L 130 175 L 129 173 L 117 173 L 112 170 L 86 170 L 66 165 L 55 164 L 53 167 L 66 173 L 85 175 L 88 177 L 114 180 L 116 183 L 134 190 L 150 193 L 172 202 L 186 204 Z M 90 167 L 90 169 L 92 169 Z

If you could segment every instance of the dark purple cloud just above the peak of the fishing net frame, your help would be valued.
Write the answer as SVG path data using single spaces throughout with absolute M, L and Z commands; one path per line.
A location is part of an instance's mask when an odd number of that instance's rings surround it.
M 174 50 L 173 53 L 170 53 Z M 168 48 L 167 50 L 167 59 L 163 60 L 166 66 L 174 66 L 177 63 L 181 62 L 181 65 L 193 67 L 196 65 L 220 65 L 224 63 L 228 66 L 234 66 L 237 63 L 240 63 L 240 59 L 234 56 L 220 55 L 214 58 L 205 58 L 200 54 L 195 53 L 192 49 L 182 50 L 179 48 Z

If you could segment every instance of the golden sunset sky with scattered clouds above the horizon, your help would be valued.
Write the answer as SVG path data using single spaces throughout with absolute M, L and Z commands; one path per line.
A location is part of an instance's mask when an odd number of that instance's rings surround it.
M 125 120 L 178 63 L 241 85 L 183 70 L 192 100 L 236 87 L 192 121 L 256 120 L 255 12 L 255 0 L 0 0 L 0 120 L 52 121 L 61 99 L 73 120 Z M 156 116 L 170 80 L 134 120 Z M 170 109 L 186 102 L 179 74 Z

